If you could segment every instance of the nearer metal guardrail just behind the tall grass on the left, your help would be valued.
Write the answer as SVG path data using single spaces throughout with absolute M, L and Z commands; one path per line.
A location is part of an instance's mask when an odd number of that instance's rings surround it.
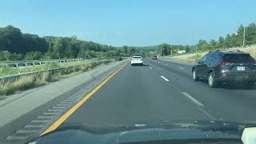
M 111 60 L 102 60 L 102 61 L 98 61 L 98 62 L 89 62 L 86 63 L 86 65 L 90 65 L 90 64 L 102 64 L 102 63 L 107 63 L 107 62 L 111 62 Z M 29 73 L 24 73 L 24 74 L 14 74 L 14 75 L 10 75 L 10 76 L 6 76 L 6 77 L 0 77 L 0 81 L 2 82 L 6 82 L 6 81 L 14 81 L 18 78 L 24 77 L 24 76 L 29 76 L 29 75 L 37 75 L 40 73 L 44 73 L 44 72 L 50 72 L 50 73 L 57 73 L 57 72 L 61 72 L 61 71 L 65 71 L 65 70 L 71 70 L 76 66 L 83 66 L 85 64 L 79 64 L 79 65 L 75 65 L 75 66 L 64 66 L 64 67 L 60 67 L 60 68 L 56 68 L 56 69 L 49 69 L 49 70 L 40 70 L 40 71 L 34 71 L 34 72 L 29 72 Z

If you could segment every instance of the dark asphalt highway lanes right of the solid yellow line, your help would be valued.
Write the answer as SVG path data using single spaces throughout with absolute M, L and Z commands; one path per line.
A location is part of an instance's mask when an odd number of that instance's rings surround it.
M 255 86 L 252 90 L 239 86 L 213 89 L 206 82 L 194 82 L 189 65 L 150 58 L 145 62 L 147 66 L 123 66 L 66 118 L 56 119 L 55 126 L 82 123 L 107 128 L 200 120 L 256 122 Z

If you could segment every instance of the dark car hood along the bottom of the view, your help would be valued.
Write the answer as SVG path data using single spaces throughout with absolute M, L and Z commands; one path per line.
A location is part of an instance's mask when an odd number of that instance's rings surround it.
M 240 142 L 242 130 L 255 124 L 195 121 L 160 122 L 123 126 L 86 126 L 66 124 L 38 138 L 37 143 L 124 143 L 178 139 L 230 139 Z

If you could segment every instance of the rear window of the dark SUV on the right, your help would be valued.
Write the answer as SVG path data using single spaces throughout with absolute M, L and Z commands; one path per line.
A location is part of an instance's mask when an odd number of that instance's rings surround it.
M 225 54 L 225 62 L 254 62 L 250 54 Z

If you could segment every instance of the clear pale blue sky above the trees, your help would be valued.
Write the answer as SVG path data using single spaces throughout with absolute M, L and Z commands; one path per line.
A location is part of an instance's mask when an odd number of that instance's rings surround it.
M 0 26 L 112 46 L 194 45 L 256 22 L 255 0 L 1 0 Z

